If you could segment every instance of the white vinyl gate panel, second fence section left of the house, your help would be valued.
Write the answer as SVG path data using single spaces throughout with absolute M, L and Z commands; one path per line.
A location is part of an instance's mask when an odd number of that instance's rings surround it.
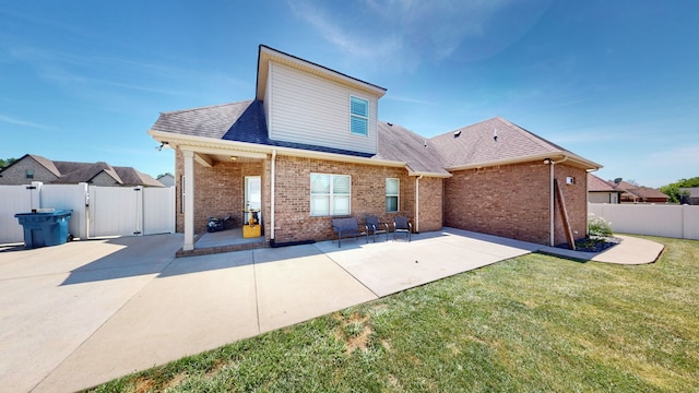
M 88 237 L 142 235 L 142 187 L 90 186 Z

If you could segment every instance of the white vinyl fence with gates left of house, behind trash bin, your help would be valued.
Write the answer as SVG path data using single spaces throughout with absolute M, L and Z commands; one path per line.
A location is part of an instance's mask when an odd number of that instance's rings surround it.
M 0 186 L 0 243 L 24 241 L 14 217 L 33 209 L 72 210 L 76 238 L 175 233 L 175 188 L 81 184 Z

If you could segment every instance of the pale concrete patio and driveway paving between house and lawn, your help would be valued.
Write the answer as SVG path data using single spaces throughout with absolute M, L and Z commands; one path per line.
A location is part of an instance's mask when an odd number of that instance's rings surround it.
M 656 252 L 654 260 L 662 251 L 629 239 L 612 259 L 640 253 L 645 261 Z M 175 259 L 181 243 L 181 235 L 158 235 L 0 252 L 2 390 L 85 389 L 543 249 L 450 228 L 412 242 L 360 239 L 339 249 L 325 241 Z

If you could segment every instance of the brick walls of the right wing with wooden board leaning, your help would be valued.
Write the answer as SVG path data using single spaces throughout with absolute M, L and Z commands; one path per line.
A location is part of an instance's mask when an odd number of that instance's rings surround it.
M 445 180 L 445 226 L 548 245 L 549 167 L 541 162 L 461 170 Z M 566 186 L 566 177 L 576 184 Z M 587 235 L 587 174 L 567 165 L 555 166 L 562 187 L 573 236 Z M 562 219 L 555 207 L 555 241 L 566 241 Z

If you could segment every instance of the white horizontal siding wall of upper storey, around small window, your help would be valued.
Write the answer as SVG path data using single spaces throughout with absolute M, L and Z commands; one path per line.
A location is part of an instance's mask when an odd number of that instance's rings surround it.
M 350 131 L 352 96 L 366 99 L 366 135 Z M 270 139 L 377 153 L 377 97 L 365 92 L 270 63 L 265 107 Z

